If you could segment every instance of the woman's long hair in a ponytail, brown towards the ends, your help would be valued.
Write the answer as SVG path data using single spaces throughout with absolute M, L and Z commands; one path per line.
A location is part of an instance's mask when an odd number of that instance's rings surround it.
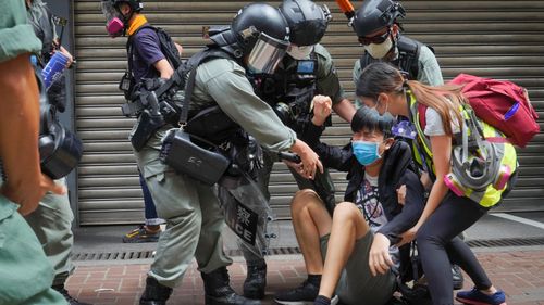
M 457 122 L 462 122 L 459 113 L 459 106 L 466 103 L 466 98 L 461 93 L 462 86 L 431 87 L 417 80 L 405 80 L 396 67 L 384 62 L 376 62 L 362 71 L 361 77 L 357 81 L 356 94 L 378 99 L 382 92 L 403 94 L 405 89 L 411 90 L 418 103 L 435 110 L 444 123 L 444 131 L 446 135 L 453 136 L 453 115 L 456 116 Z

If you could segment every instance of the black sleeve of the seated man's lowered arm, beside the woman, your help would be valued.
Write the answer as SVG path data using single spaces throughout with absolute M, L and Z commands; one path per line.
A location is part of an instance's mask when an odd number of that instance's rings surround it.
M 407 169 L 397 187 L 403 185 L 406 185 L 406 201 L 403 211 L 378 230 L 379 233 L 387 237 L 392 244 L 398 243 L 400 233 L 418 223 L 424 208 L 424 190 L 418 176 Z

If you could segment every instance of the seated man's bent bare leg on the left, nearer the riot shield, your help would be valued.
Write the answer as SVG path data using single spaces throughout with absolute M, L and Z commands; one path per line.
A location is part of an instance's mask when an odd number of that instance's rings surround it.
M 290 203 L 293 228 L 309 275 L 323 272 L 320 237 L 331 232 L 332 219 L 318 194 L 309 189 L 298 191 Z

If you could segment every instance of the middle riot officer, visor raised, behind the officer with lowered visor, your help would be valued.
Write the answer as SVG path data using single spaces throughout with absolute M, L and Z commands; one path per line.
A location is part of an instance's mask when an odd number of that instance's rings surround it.
M 252 75 L 256 93 L 269 103 L 285 125 L 301 135 L 311 119 L 311 101 L 314 96 L 329 96 L 333 110 L 346 122 L 350 122 L 355 107 L 344 98 L 333 59 L 320 45 L 331 14 L 326 7 L 310 0 L 284 0 L 280 11 L 289 25 L 290 46 L 287 55 L 273 75 Z M 276 157 L 264 152 L 264 165 L 259 173 L 259 185 L 270 200 L 268 185 Z M 289 167 L 299 189 L 314 189 L 327 209 L 334 208 L 334 185 L 329 171 L 318 174 L 314 180 L 301 177 Z M 262 298 L 267 280 L 267 265 L 262 255 L 248 251 L 242 244 L 248 275 L 244 282 L 244 295 Z

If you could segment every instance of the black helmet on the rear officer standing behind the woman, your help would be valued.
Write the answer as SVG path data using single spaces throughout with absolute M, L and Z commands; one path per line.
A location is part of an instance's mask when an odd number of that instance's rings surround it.
M 367 0 L 355 14 L 353 27 L 358 37 L 393 25 L 398 17 L 405 17 L 406 11 L 400 3 L 392 0 Z

